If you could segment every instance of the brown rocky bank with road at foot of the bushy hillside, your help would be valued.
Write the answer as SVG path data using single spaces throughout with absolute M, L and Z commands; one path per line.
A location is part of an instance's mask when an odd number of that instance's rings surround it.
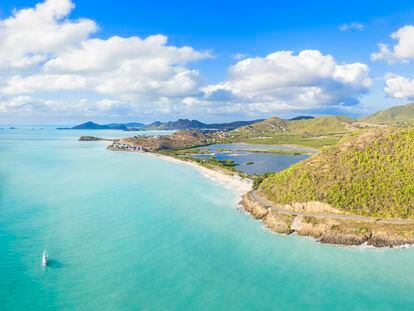
M 255 219 L 280 234 L 296 233 L 321 243 L 339 245 L 372 245 L 398 247 L 414 244 L 414 224 L 320 218 L 281 213 L 255 200 L 250 192 L 243 195 L 241 205 Z

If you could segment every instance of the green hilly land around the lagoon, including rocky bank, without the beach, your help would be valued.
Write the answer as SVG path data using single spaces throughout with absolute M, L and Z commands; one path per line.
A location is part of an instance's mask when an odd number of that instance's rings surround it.
M 398 111 L 406 115 L 410 107 Z M 341 245 L 414 244 L 414 128 L 407 126 L 409 120 L 401 123 L 397 113 L 392 113 L 397 122 L 389 117 L 387 122 L 377 122 L 378 115 L 390 114 L 375 114 L 376 122 L 370 117 L 273 117 L 231 131 L 180 130 L 117 139 L 108 149 L 155 153 L 254 179 L 254 189 L 243 195 L 241 204 L 281 234 L 295 232 Z M 206 152 L 200 146 L 233 142 L 284 142 L 312 146 L 319 152 L 262 176 L 241 173 L 232 161 L 191 156 Z

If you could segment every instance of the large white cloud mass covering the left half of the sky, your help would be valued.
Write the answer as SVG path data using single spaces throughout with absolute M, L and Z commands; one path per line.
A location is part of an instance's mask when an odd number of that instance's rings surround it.
M 210 58 L 210 52 L 169 45 L 159 34 L 95 38 L 96 23 L 69 19 L 73 9 L 71 0 L 46 0 L 0 20 L 0 92 L 9 96 L 3 99 L 3 110 L 29 106 L 10 104 L 13 97 L 63 109 L 64 101 L 42 100 L 44 94 L 50 98 L 62 91 L 88 93 L 94 98 L 89 105 L 98 110 L 112 107 L 119 112 L 124 105 L 141 111 L 148 103 L 156 110 L 157 103 L 172 105 L 198 92 L 200 74 L 188 64 Z M 71 105 L 68 111 L 78 107 L 82 113 L 88 101 L 66 104 Z

